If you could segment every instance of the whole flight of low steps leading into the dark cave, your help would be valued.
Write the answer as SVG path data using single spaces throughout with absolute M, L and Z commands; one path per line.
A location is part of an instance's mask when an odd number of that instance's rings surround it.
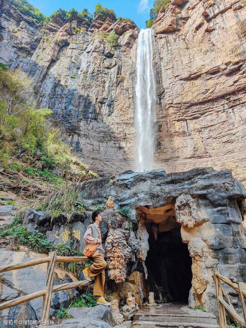
M 134 317 L 132 328 L 219 328 L 212 313 L 190 309 L 186 304 L 164 303 L 142 307 Z

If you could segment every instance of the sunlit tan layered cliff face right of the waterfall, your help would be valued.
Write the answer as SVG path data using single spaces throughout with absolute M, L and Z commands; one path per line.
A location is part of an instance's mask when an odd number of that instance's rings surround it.
M 244 179 L 245 1 L 174 0 L 154 22 L 158 167 Z

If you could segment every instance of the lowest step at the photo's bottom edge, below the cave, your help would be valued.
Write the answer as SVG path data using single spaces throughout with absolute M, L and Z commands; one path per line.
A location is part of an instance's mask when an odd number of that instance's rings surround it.
M 134 321 L 132 328 L 219 328 L 217 324 L 192 322 L 160 322 L 160 321 Z

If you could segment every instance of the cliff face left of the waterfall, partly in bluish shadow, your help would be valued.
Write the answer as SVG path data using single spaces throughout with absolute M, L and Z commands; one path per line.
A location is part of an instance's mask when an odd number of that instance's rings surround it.
M 136 25 L 98 15 L 84 31 L 77 20 L 55 18 L 41 32 L 8 2 L 0 10 L 0 61 L 33 78 L 37 106 L 54 111 L 89 166 L 100 174 L 129 168 Z M 112 30 L 118 46 L 106 40 Z

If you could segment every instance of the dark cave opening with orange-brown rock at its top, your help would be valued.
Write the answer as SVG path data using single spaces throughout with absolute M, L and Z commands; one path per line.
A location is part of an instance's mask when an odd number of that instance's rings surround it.
M 188 303 L 192 260 L 187 244 L 182 242 L 181 225 L 173 206 L 139 210 L 149 233 L 147 296 L 154 292 L 156 303 Z

